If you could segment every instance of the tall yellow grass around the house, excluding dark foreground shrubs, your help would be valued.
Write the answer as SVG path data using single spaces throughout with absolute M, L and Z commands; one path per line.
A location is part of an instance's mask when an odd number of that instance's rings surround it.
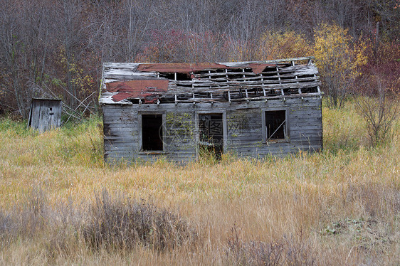
M 169 252 L 140 245 L 131 252 L 93 252 L 70 240 L 70 252 L 48 255 L 43 232 L 3 246 L 0 264 L 228 265 L 238 263 L 228 245 L 237 236 L 242 247 L 285 246 L 283 265 L 399 265 L 399 119 L 391 139 L 371 149 L 354 108 L 351 102 L 323 108 L 321 153 L 263 161 L 224 154 L 218 163 L 186 166 L 103 164 L 98 118 L 41 135 L 3 119 L 0 209 L 12 211 L 35 188 L 53 206 L 68 199 L 79 206 L 107 188 L 179 212 L 199 238 Z M 290 260 L 288 250 L 304 252 Z

